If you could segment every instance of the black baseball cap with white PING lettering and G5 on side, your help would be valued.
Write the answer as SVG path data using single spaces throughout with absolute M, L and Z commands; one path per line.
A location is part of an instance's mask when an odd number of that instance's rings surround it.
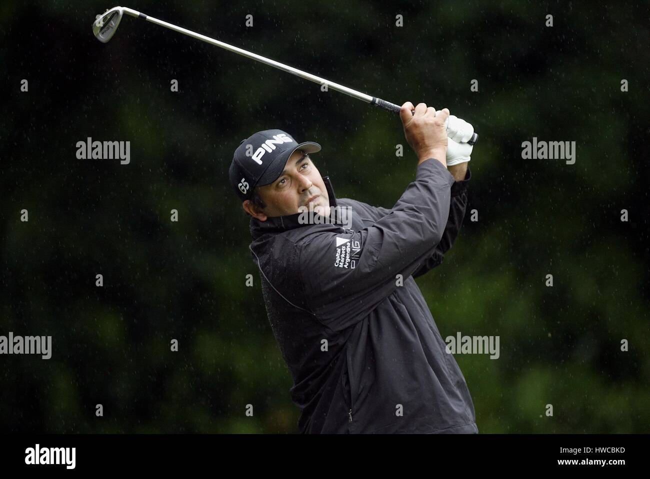
M 298 143 L 282 130 L 258 131 L 242 140 L 228 171 L 230 184 L 241 201 L 250 199 L 255 186 L 277 180 L 289 156 L 296 150 L 316 153 L 320 145 L 313 141 Z

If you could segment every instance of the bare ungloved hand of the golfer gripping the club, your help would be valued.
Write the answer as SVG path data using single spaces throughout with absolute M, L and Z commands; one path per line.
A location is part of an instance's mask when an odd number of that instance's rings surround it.
M 415 110 L 414 114 L 411 111 Z M 447 129 L 445 121 L 449 117 L 449 110 L 443 108 L 436 114 L 433 106 L 427 107 L 424 103 L 407 101 L 400 108 L 400 118 L 404 125 L 404 136 L 415 154 L 418 164 L 429 158 L 441 162 L 447 167 Z

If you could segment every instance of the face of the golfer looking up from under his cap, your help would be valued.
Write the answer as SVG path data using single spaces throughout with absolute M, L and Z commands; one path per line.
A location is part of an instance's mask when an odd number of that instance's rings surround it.
M 319 215 L 330 215 L 330 197 L 323 178 L 311 158 L 301 150 L 289 156 L 284 171 L 274 182 L 257 187 L 257 191 L 266 208 L 258 210 L 249 200 L 244 201 L 243 206 L 248 214 L 260 221 L 266 221 L 267 217 L 296 214 L 302 211 L 298 210 L 301 206 L 305 206 L 307 211 L 313 208 Z

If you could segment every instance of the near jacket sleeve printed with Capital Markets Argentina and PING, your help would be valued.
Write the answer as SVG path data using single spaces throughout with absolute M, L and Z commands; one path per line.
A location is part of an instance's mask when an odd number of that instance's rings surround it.
M 340 331 L 366 317 L 434 252 L 454 177 L 426 160 L 389 214 L 357 232 L 320 232 L 300 247 L 299 273 L 317 319 Z

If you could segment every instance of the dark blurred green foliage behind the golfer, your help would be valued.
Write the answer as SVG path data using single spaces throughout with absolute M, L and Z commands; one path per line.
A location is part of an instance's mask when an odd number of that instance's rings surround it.
M 322 145 L 337 196 L 390 207 L 415 173 L 400 120 L 131 17 L 99 43 L 111 6 L 0 3 L 0 334 L 53 336 L 50 360 L 0 356 L 0 432 L 295 432 L 227 168 L 279 128 Z M 479 221 L 418 282 L 443 338 L 500 336 L 498 360 L 456 355 L 480 432 L 650 432 L 647 3 L 127 6 L 473 123 Z M 131 163 L 77 160 L 88 136 Z M 575 164 L 522 160 L 533 136 L 576 141 Z

